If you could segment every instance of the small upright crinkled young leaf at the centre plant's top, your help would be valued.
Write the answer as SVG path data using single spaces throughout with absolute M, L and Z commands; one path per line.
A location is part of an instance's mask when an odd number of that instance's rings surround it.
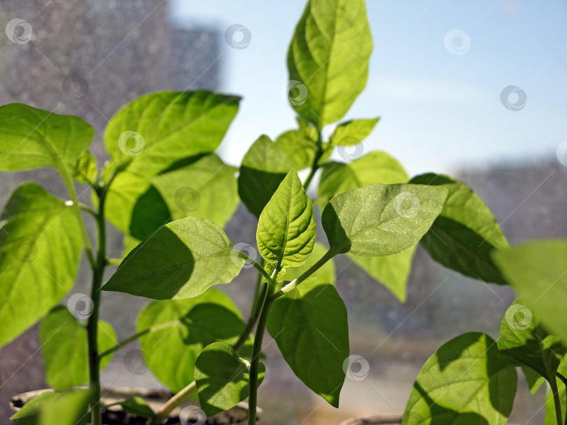
M 256 241 L 265 260 L 283 267 L 301 266 L 309 258 L 315 243 L 315 215 L 295 168 L 260 214 Z

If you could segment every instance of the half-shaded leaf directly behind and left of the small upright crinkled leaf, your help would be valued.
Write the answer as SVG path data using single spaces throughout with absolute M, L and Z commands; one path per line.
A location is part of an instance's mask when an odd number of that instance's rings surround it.
M 242 159 L 238 178 L 238 194 L 248 211 L 260 217 L 292 165 L 286 151 L 268 136 L 253 143 Z

